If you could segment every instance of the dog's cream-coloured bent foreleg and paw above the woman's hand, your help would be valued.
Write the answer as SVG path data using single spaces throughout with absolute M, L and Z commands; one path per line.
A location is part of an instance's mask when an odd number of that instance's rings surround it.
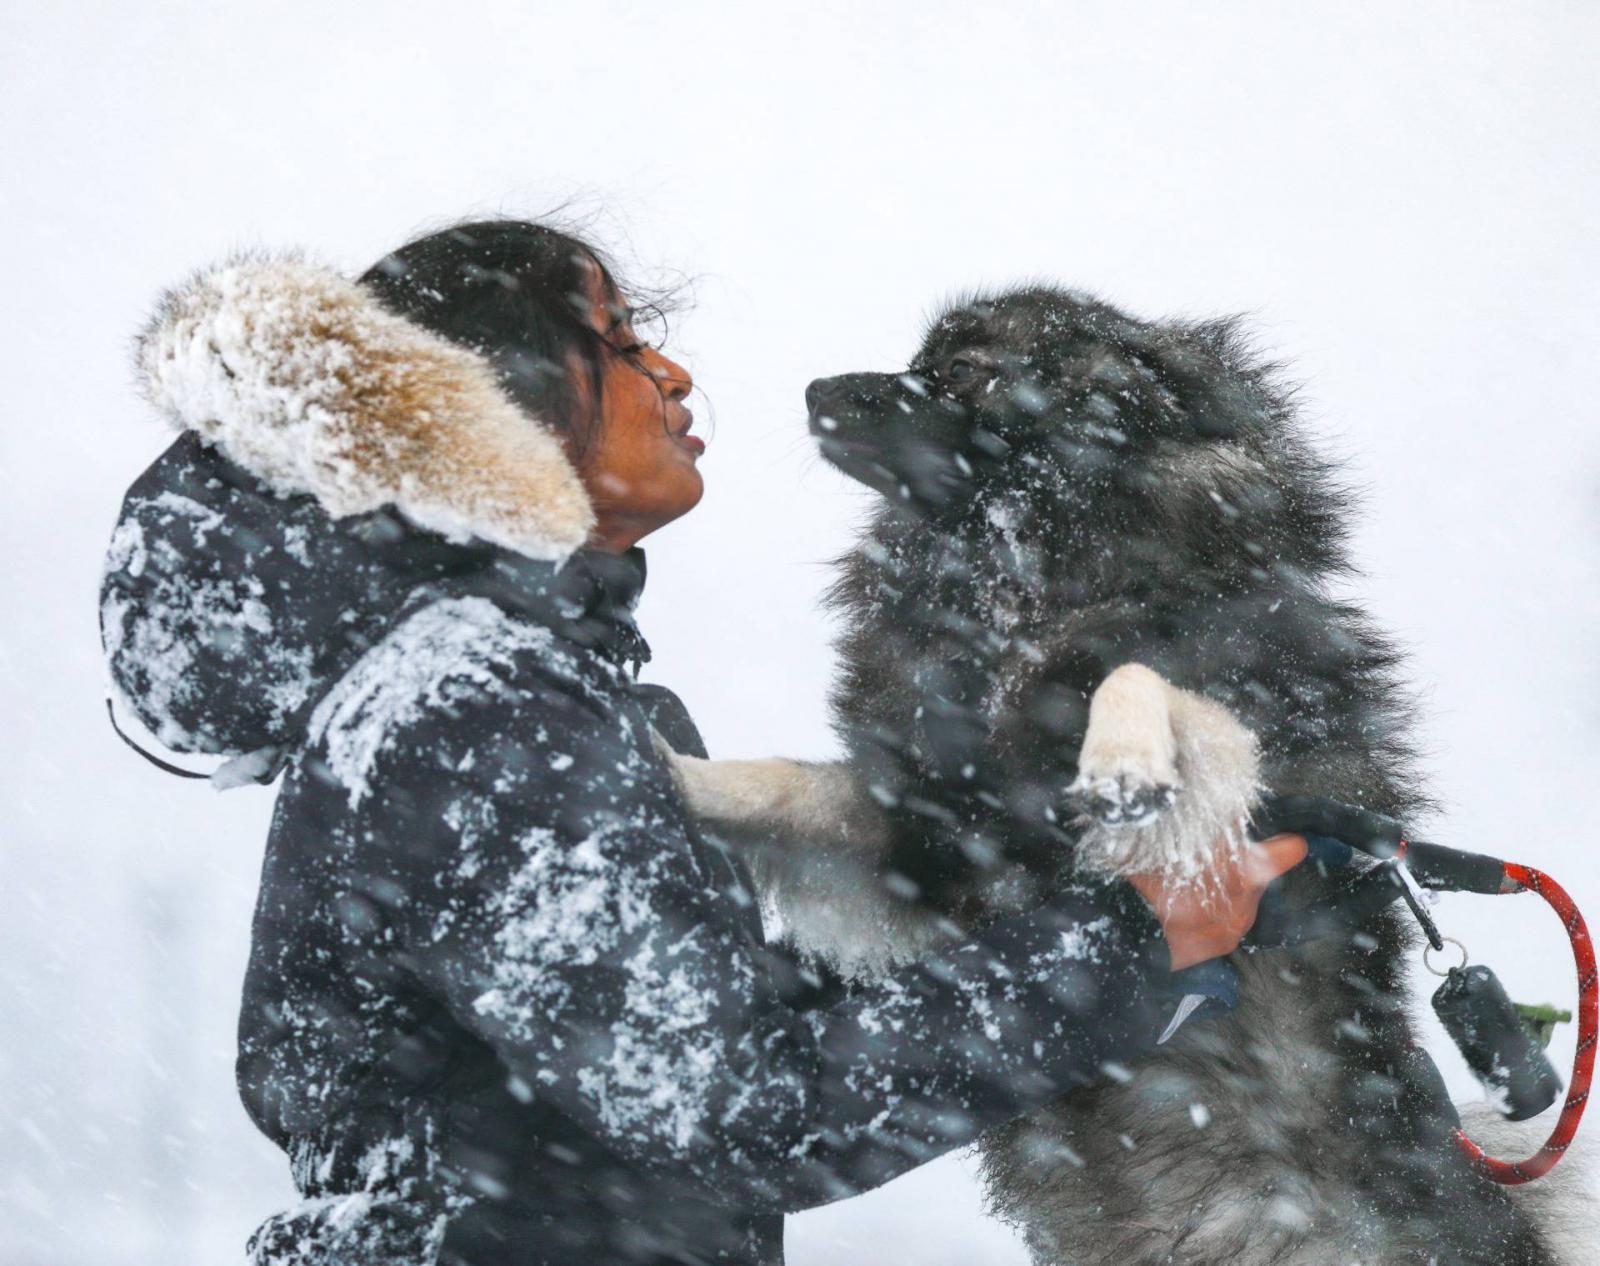
M 1218 842 L 1243 847 L 1259 778 L 1256 738 L 1232 712 L 1123 664 L 1090 701 L 1069 787 L 1086 818 L 1078 863 L 1205 882 Z

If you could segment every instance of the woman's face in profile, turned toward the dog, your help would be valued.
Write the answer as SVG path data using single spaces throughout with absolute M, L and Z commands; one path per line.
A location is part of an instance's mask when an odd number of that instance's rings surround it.
M 696 463 L 706 443 L 690 435 L 690 371 L 640 343 L 598 269 L 590 270 L 589 322 L 626 352 L 605 359 L 598 440 L 578 463 L 595 507 L 589 543 L 619 554 L 699 504 L 706 485 Z

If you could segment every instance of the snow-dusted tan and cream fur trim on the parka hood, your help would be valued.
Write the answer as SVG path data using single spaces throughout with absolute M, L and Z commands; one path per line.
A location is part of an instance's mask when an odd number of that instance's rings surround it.
M 549 427 L 472 352 L 296 256 L 235 258 L 168 291 L 144 394 L 278 495 L 333 517 L 394 506 L 451 539 L 562 560 L 594 507 Z

